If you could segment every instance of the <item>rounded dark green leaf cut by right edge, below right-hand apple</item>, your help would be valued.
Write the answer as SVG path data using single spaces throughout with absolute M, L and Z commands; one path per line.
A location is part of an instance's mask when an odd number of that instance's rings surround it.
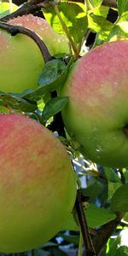
M 128 212 L 128 183 L 122 185 L 113 194 L 111 208 L 113 212 Z

